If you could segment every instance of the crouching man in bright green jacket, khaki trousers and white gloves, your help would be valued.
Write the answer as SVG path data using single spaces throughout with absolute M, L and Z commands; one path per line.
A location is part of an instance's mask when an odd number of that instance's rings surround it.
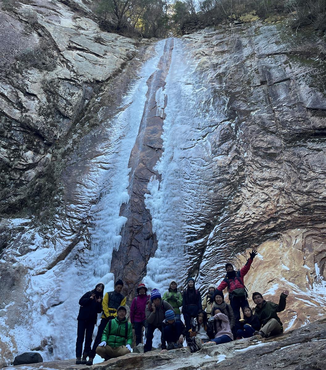
M 110 320 L 102 334 L 102 342 L 98 345 L 96 353 L 107 361 L 113 357 L 124 356 L 131 352 L 132 326 L 126 319 L 127 310 L 119 306 L 117 317 Z

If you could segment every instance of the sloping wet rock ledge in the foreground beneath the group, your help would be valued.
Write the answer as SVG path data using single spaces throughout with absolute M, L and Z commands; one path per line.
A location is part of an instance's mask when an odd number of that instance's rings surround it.
M 94 364 L 91 367 L 75 365 L 74 360 L 51 361 L 24 367 L 37 369 L 316 369 L 326 366 L 326 321 L 308 324 L 300 329 L 270 339 L 254 336 L 248 339 L 204 347 L 191 354 L 188 347 L 161 353 L 131 353 L 117 359 Z M 16 366 L 20 369 L 19 366 Z M 10 369 L 10 368 L 5 368 Z

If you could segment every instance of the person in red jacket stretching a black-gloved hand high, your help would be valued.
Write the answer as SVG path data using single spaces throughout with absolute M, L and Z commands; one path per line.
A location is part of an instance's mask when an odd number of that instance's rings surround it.
M 247 297 L 248 294 L 246 292 L 245 284 L 243 283 L 243 277 L 249 271 L 250 266 L 252 264 L 253 259 L 258 253 L 255 249 L 249 253 L 250 258 L 243 266 L 243 268 L 239 271 L 235 271 L 231 263 L 226 263 L 225 270 L 226 275 L 225 278 L 222 280 L 221 284 L 217 287 L 217 290 L 221 292 L 227 287 L 229 292 L 229 300 L 234 312 L 235 322 L 236 322 L 236 330 L 240 329 L 238 327 L 239 320 L 240 320 L 240 308 L 244 308 L 245 306 L 249 306 Z

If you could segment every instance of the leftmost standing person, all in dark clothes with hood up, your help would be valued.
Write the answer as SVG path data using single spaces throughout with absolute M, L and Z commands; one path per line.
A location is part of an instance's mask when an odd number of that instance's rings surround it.
M 104 284 L 98 283 L 93 290 L 85 293 L 79 300 L 77 340 L 76 340 L 76 364 L 85 364 L 91 351 L 92 335 L 96 324 L 97 314 L 102 311 Z M 83 342 L 85 337 L 83 357 Z

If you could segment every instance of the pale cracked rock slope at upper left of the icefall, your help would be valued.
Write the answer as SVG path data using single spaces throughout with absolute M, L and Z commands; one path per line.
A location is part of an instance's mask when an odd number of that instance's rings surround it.
M 36 0 L 1 12 L 0 158 L 2 180 L 14 183 L 4 209 L 46 173 L 94 91 L 136 52 L 135 40 L 102 33 L 82 1 L 70 5 Z

